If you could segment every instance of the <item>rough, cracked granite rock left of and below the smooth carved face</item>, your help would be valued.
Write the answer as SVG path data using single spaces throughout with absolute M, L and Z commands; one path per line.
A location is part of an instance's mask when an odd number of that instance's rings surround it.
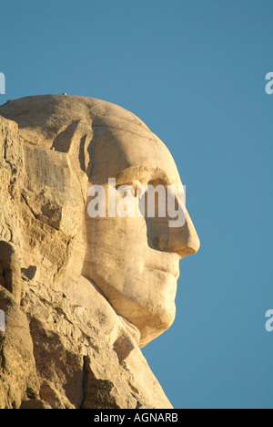
M 84 144 L 83 128 L 59 133 L 56 152 L 45 130 L 36 141 L 0 115 L 0 408 L 171 408 L 139 331 L 81 276 L 86 188 L 66 144 Z

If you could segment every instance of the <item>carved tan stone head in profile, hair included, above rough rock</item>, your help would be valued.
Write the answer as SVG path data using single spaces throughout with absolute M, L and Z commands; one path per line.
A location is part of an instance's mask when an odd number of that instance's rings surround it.
M 91 218 L 86 183 L 107 187 L 116 178 L 116 186 L 181 185 L 167 147 L 132 113 L 98 99 L 29 97 L 0 111 L 24 137 L 25 176 L 33 187 L 27 200 L 32 194 L 37 218 L 54 230 L 48 253 L 37 242 L 36 258 L 56 272 L 50 274 L 55 286 L 75 283 L 81 274 L 93 281 L 116 313 L 139 330 L 140 346 L 146 345 L 175 318 L 179 260 L 197 252 L 197 233 L 188 214 L 180 228 L 169 227 L 168 217 L 111 218 L 106 212 Z M 64 238 L 70 244 L 62 255 Z

